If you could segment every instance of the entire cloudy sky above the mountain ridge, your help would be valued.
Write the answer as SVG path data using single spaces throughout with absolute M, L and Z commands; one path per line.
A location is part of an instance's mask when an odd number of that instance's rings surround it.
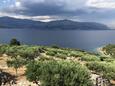
M 41 21 L 71 19 L 115 27 L 115 0 L 0 0 L 0 16 Z

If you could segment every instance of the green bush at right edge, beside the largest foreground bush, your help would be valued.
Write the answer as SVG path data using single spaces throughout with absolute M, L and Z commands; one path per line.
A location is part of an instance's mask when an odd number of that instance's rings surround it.
M 90 62 L 87 63 L 87 67 L 93 70 L 107 79 L 115 80 L 115 63 L 106 62 Z

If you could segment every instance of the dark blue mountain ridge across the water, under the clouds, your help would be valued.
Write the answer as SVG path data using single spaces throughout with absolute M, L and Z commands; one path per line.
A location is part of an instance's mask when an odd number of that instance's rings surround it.
M 37 28 L 47 30 L 108 30 L 106 25 L 94 22 L 75 22 L 71 20 L 57 20 L 51 22 L 32 21 L 0 17 L 0 28 Z

